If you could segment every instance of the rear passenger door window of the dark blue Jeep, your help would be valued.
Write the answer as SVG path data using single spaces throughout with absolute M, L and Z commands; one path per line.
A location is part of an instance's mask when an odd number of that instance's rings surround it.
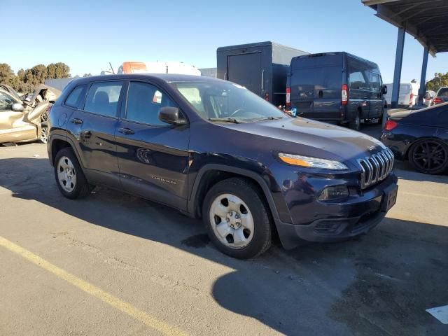
M 84 110 L 115 117 L 122 86 L 123 82 L 93 83 L 87 92 Z

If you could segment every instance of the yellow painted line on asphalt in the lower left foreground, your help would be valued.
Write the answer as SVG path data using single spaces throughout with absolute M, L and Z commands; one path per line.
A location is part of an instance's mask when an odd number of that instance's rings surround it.
M 74 276 L 73 274 L 64 271 L 64 269 L 53 265 L 51 262 L 42 259 L 38 255 L 31 253 L 25 248 L 22 248 L 1 236 L 0 236 L 0 246 L 3 246 L 4 248 L 7 248 L 9 251 L 20 255 L 21 257 L 27 259 L 28 261 L 33 262 L 34 264 L 38 265 L 38 267 L 41 267 L 47 270 L 48 272 L 55 274 L 60 279 L 63 279 L 68 283 L 71 283 L 73 286 L 76 286 L 80 290 L 85 291 L 85 293 L 97 297 L 99 300 L 106 302 L 107 304 L 111 305 L 112 307 L 120 311 L 123 311 L 123 313 L 132 316 L 133 318 L 137 319 L 141 323 L 144 323 L 145 325 L 148 325 L 149 328 L 158 330 L 159 332 L 162 332 L 162 334 L 168 336 L 187 335 L 186 332 L 183 332 L 183 330 L 180 330 L 172 325 L 169 325 L 164 321 L 160 321 L 158 318 L 151 316 L 145 311 L 141 311 L 137 307 L 134 307 L 132 304 L 120 300 L 118 297 L 105 292 L 104 290 L 102 290 L 97 286 L 92 285 L 92 283 L 84 281 L 83 279 L 79 279 L 77 276 Z

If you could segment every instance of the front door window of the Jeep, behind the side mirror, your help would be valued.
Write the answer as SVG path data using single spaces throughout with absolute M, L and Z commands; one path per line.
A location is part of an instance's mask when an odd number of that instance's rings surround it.
M 176 106 L 166 94 L 148 83 L 131 82 L 127 92 L 126 119 L 149 125 L 168 125 L 159 120 L 159 110 Z

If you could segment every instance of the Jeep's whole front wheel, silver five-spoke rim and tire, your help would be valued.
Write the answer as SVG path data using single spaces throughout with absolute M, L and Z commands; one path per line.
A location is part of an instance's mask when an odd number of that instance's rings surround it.
M 255 258 L 271 245 L 269 208 L 255 188 L 244 179 L 226 179 L 204 199 L 202 217 L 211 241 L 234 258 Z

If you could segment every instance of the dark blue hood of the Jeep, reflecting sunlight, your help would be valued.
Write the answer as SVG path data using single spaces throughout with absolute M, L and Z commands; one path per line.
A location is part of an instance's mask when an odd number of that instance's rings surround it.
M 367 134 L 344 127 L 321 123 L 305 118 L 283 118 L 258 123 L 225 124 L 225 127 L 248 132 L 261 137 L 286 141 L 272 141 L 279 148 L 273 151 L 289 151 L 292 154 L 317 158 L 351 161 L 381 151 L 384 145 Z M 267 142 L 269 144 L 269 142 Z M 300 144 L 301 146 L 296 146 Z

